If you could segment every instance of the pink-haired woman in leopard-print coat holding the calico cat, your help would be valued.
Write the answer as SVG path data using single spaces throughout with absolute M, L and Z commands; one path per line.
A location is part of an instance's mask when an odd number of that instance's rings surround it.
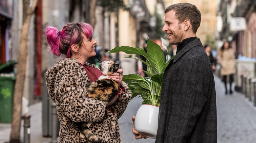
M 122 72 L 109 75 L 123 89 L 120 96 L 114 95 L 108 104 L 88 98 L 86 85 L 96 81 L 103 73 L 96 65 L 85 62 L 95 56 L 96 40 L 92 38 L 93 28 L 87 23 L 68 23 L 62 30 L 46 27 L 46 38 L 50 52 L 65 57 L 46 73 L 48 93 L 56 103 L 60 120 L 59 142 L 88 143 L 80 137 L 81 122 L 93 122 L 89 127 L 102 142 L 122 142 L 118 119 L 125 111 L 131 91 L 122 82 Z M 109 107 L 109 108 L 108 108 Z

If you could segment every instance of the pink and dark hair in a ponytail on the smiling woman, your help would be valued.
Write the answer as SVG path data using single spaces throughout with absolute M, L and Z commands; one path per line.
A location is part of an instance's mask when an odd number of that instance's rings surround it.
M 65 24 L 59 32 L 57 28 L 49 26 L 46 27 L 46 38 L 50 45 L 50 51 L 53 55 L 60 56 L 64 54 L 67 58 L 71 57 L 71 45 L 78 44 L 82 46 L 83 37 L 81 33 L 89 39 L 93 35 L 93 27 L 87 23 L 68 23 Z

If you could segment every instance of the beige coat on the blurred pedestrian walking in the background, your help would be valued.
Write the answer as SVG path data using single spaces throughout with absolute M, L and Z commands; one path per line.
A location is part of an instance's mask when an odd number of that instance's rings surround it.
M 221 56 L 222 55 L 222 56 Z M 218 52 L 219 62 L 221 64 L 221 75 L 230 75 L 236 72 L 235 54 L 232 48 L 224 49 Z

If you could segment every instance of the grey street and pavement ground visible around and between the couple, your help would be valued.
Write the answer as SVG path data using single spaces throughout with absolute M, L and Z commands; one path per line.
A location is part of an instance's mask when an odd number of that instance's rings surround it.
M 217 130 L 218 143 L 256 143 L 256 107 L 240 92 L 224 94 L 224 85 L 215 76 L 217 96 Z M 142 100 L 133 99 L 119 119 L 120 134 L 123 143 L 154 143 L 155 139 L 134 139 L 132 134 L 132 116 L 136 115 Z M 42 103 L 30 106 L 31 143 L 49 143 L 51 138 L 42 137 Z M 9 141 L 9 123 L 0 123 L 0 143 Z M 23 128 L 21 131 L 23 139 Z

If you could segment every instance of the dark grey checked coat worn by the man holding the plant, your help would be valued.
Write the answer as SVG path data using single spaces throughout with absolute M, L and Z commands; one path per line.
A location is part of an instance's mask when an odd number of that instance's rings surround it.
M 213 72 L 197 38 L 164 72 L 156 143 L 216 143 L 216 116 Z

